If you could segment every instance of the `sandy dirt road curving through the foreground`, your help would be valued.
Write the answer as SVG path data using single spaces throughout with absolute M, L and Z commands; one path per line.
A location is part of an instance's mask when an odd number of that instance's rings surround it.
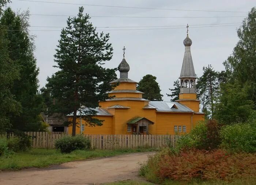
M 68 162 L 43 169 L 0 172 L 0 185 L 101 184 L 138 178 L 138 162 L 153 152 Z

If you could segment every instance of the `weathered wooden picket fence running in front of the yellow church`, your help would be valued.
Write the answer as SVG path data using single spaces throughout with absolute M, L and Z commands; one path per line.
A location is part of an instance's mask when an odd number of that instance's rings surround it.
M 63 132 L 25 132 L 32 139 L 33 148 L 54 148 L 57 139 L 67 136 Z M 9 133 L 8 137 L 13 137 Z M 178 135 L 111 135 L 90 134 L 84 135 L 91 141 L 92 149 L 125 149 L 138 147 L 175 147 Z

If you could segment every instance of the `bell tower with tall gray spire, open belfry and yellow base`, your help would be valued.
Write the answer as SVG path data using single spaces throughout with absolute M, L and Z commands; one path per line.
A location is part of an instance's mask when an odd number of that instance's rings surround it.
M 180 72 L 180 94 L 177 102 L 186 105 L 195 112 L 199 112 L 199 100 L 196 98 L 196 74 L 191 56 L 192 40 L 188 37 L 184 39 L 185 53 Z

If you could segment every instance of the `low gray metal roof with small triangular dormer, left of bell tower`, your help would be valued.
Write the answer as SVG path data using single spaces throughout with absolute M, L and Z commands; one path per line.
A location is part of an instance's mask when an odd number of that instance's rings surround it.
M 187 106 L 178 102 L 150 101 L 148 105 L 156 107 L 158 112 L 193 112 L 192 109 L 189 109 Z M 175 106 L 177 109 L 172 108 Z

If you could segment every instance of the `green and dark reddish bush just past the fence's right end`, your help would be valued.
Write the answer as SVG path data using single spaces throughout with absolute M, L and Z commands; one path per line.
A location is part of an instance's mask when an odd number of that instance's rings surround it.
M 216 120 L 208 120 L 207 123 L 201 122 L 191 130 L 190 133 L 182 135 L 176 147 L 180 149 L 205 149 L 212 150 L 218 147 L 221 142 L 219 138 L 219 125 Z

